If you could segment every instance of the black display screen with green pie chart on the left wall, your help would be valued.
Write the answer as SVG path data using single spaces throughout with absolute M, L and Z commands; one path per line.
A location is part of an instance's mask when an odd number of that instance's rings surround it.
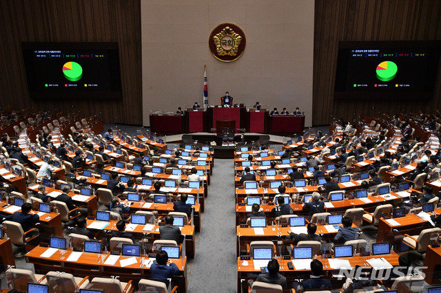
M 22 43 L 32 98 L 121 98 L 117 43 Z

